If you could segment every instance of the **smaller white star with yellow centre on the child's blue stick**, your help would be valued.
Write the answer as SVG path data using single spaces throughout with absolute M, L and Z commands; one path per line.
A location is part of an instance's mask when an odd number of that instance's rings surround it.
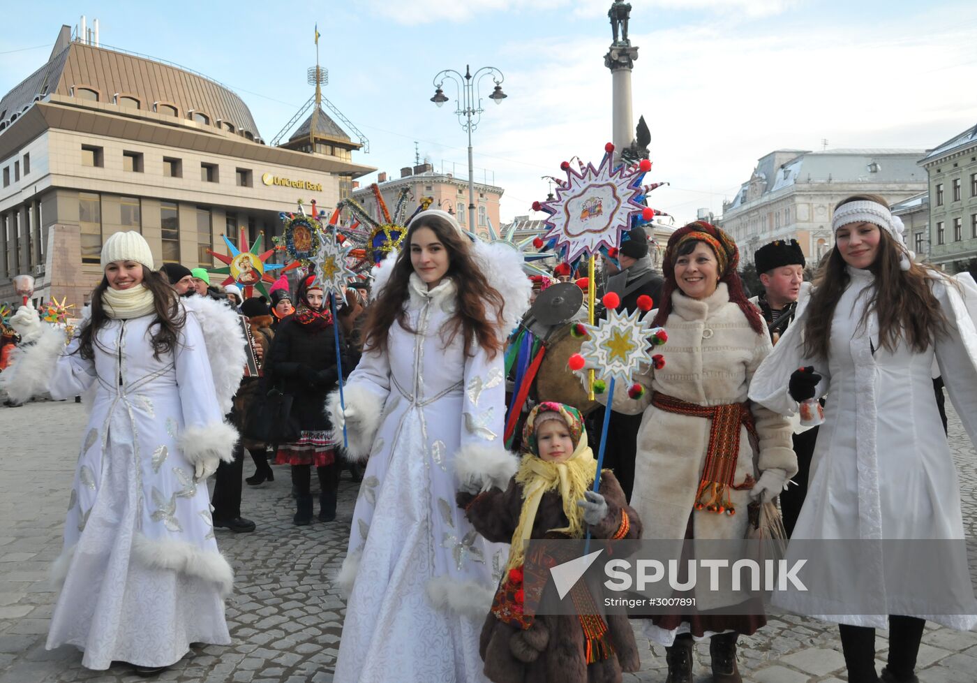
M 646 318 L 638 309 L 630 315 L 609 310 L 596 325 L 583 325 L 587 338 L 580 345 L 580 356 L 599 376 L 630 382 L 642 365 L 653 364 L 649 350 L 657 328 Z

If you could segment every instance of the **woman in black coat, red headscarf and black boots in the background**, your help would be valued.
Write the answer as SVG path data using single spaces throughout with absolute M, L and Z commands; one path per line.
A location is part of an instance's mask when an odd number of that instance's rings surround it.
M 316 277 L 302 280 L 297 292 L 299 306 L 295 314 L 282 320 L 275 333 L 265 374 L 269 387 L 276 387 L 292 398 L 291 418 L 300 428 L 296 441 L 278 444 L 276 463 L 291 465 L 292 484 L 297 490 L 297 511 L 293 522 L 298 526 L 312 523 L 310 466 L 319 476 L 319 520 L 336 519 L 336 490 L 339 468 L 336 466 L 336 437 L 332 423 L 323 412 L 326 395 L 336 387 L 336 345 L 332 314 Z M 345 353 L 340 338 L 340 359 Z

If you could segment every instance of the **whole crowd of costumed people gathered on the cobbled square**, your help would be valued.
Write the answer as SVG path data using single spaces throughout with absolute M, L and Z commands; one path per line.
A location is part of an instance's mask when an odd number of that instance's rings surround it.
M 752 298 L 720 228 L 675 231 L 661 273 L 633 228 L 605 257 L 602 290 L 628 313 L 654 299 L 664 366 L 598 393 L 589 416 L 539 396 L 518 454 L 503 443 L 506 348 L 550 278 L 526 277 L 517 252 L 473 243 L 450 214 L 416 214 L 372 283 L 331 302 L 315 274 L 294 293 L 282 278 L 270 300 L 242 300 L 201 269 L 154 271 L 141 235 L 110 236 L 66 348 L 30 306 L 3 330 L 16 350 L 0 385 L 14 403 L 94 388 L 48 647 L 149 676 L 192 642 L 230 643 L 233 571 L 213 528 L 255 529 L 240 509 L 246 449 L 249 485 L 274 481 L 270 459 L 288 465 L 300 527 L 314 519 L 313 467 L 322 522 L 336 519 L 340 472 L 361 480 L 335 576 L 348 591 L 336 681 L 620 681 L 640 665 L 635 629 L 665 647 L 667 683 L 692 683 L 703 639 L 712 680 L 742 681 L 739 637 L 766 623 L 756 598 L 720 591 L 707 609 L 633 623 L 531 615 L 524 543 L 738 540 L 746 511 L 777 500 L 791 538 L 963 538 L 942 383 L 973 440 L 973 283 L 914 262 L 882 197 L 840 202 L 832 228 L 813 283 L 796 241 L 761 247 L 764 291 Z M 352 369 L 342 397 L 340 367 Z M 799 404 L 817 401 L 824 424 L 802 427 Z M 598 472 L 590 445 L 605 410 Z M 878 560 L 831 568 L 871 574 L 876 614 L 832 615 L 816 593 L 784 607 L 839 624 L 850 683 L 911 683 L 924 619 L 969 629 L 977 617 L 927 611 Z M 969 585 L 965 558 L 945 574 Z M 876 627 L 890 631 L 880 673 Z

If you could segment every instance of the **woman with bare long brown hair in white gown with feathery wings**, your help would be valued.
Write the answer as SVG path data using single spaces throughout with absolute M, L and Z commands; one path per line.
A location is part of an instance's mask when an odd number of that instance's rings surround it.
M 479 633 L 508 548 L 453 501 L 465 465 L 500 486 L 518 465 L 502 445 L 502 345 L 529 304 L 521 266 L 428 210 L 375 271 L 345 418 L 329 401 L 350 454 L 369 457 L 339 576 L 352 590 L 337 683 L 486 680 Z

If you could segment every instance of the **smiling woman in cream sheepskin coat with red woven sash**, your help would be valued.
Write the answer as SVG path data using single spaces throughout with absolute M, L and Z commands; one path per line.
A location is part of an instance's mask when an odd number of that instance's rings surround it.
M 646 389 L 637 399 L 630 398 L 626 384 L 615 389 L 616 411 L 644 413 L 631 505 L 644 521 L 646 538 L 743 539 L 751 499 L 773 498 L 797 471 L 786 418 L 745 403 L 749 380 L 771 344 L 743 293 L 739 258 L 736 242 L 708 223 L 691 223 L 671 235 L 654 320 L 668 333 L 664 368 L 637 375 Z M 697 593 L 697 614 L 645 623 L 649 637 L 666 646 L 669 680 L 691 683 L 693 639 L 710 636 L 713 680 L 742 680 L 739 634 L 766 623 L 762 605 L 745 600 L 732 591 Z M 735 614 L 708 614 L 719 607 Z

